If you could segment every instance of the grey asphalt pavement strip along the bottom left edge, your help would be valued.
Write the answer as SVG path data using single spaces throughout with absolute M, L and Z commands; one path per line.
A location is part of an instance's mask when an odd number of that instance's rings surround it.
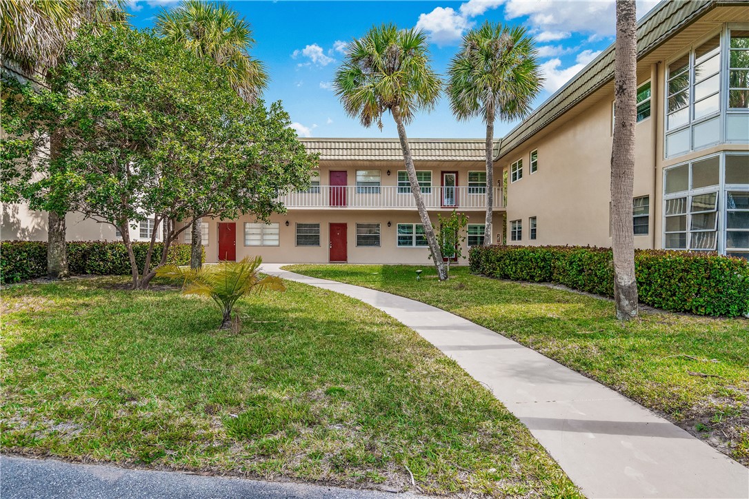
M 391 494 L 303 483 L 272 483 L 203 477 L 173 471 L 146 471 L 79 465 L 53 459 L 0 456 L 2 499 L 406 499 Z

